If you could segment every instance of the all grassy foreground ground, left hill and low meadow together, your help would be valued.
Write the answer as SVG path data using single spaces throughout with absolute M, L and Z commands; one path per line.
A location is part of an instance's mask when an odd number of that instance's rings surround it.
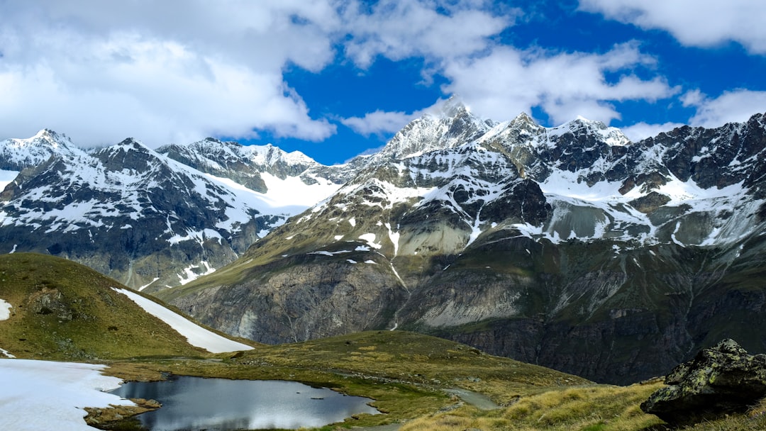
M 297 344 L 258 346 L 221 362 L 203 355 L 164 323 L 110 289 L 118 283 L 51 256 L 0 256 L 0 299 L 11 318 L 0 322 L 0 347 L 20 358 L 112 359 L 110 374 L 130 379 L 175 374 L 283 379 L 333 387 L 375 399 L 385 415 L 360 415 L 325 429 L 404 423 L 402 431 L 532 429 L 661 431 L 638 405 L 661 384 L 595 385 L 579 377 L 493 357 L 440 338 L 404 331 L 371 331 Z M 61 292 L 61 309 L 32 312 L 41 294 Z M 38 307 L 39 308 L 39 307 Z M 116 328 L 116 329 L 115 329 Z M 147 337 L 146 335 L 151 335 Z M 23 340 L 23 341 L 22 341 Z M 166 355 L 196 357 L 162 359 Z M 137 358 L 143 358 L 136 361 Z M 485 393 L 504 406 L 479 410 L 445 389 Z M 766 429 L 766 404 L 745 415 L 685 429 Z

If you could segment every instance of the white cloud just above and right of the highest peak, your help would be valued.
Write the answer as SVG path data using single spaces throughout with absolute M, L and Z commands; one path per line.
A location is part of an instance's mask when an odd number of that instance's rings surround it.
M 554 122 L 578 115 L 610 122 L 620 118 L 611 102 L 660 100 L 678 89 L 655 77 L 641 80 L 633 68 L 653 64 L 636 44 L 620 44 L 605 54 L 519 51 L 495 47 L 486 56 L 447 64 L 447 93 L 463 96 L 473 111 L 493 119 L 507 119 L 539 106 Z M 621 73 L 610 83 L 607 73 Z

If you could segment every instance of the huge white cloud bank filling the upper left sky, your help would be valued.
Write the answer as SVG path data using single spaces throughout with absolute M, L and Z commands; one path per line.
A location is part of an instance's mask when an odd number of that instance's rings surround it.
M 326 2 L 0 5 L 0 136 L 49 127 L 83 145 L 211 135 L 321 140 L 335 132 L 283 68 L 334 59 Z

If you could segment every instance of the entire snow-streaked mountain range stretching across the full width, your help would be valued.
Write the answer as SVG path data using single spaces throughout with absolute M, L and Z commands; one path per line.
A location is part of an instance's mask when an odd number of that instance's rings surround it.
M 66 146 L 5 188 L 0 240 L 156 279 L 255 341 L 404 328 L 627 383 L 721 338 L 766 351 L 764 121 L 630 142 L 453 100 L 336 167 L 213 139 Z M 326 194 L 291 212 L 244 198 L 264 188 Z

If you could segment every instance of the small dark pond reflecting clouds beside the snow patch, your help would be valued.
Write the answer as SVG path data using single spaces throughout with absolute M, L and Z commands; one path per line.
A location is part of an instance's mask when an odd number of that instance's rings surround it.
M 123 398 L 162 403 L 136 416 L 152 431 L 179 429 L 297 429 L 340 422 L 358 413 L 378 414 L 365 397 L 283 380 L 228 380 L 173 376 L 128 382 L 110 391 Z

